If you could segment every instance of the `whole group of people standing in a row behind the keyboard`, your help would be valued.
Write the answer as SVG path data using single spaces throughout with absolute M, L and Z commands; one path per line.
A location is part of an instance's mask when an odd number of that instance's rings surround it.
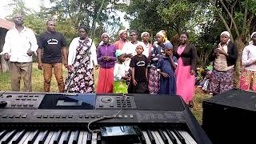
M 189 34 L 182 33 L 178 46 L 166 38 L 166 31 L 155 35 L 130 30 L 130 41 L 126 30 L 120 30 L 119 40 L 110 43 L 110 35 L 102 34 L 102 42 L 96 48 L 87 37 L 86 27 L 78 27 L 78 38 L 70 43 L 63 34 L 55 31 L 54 20 L 46 22 L 46 32 L 35 38 L 34 32 L 23 26 L 21 14 L 14 15 L 15 26 L 6 34 L 3 54 L 10 61 L 11 87 L 20 90 L 23 77 L 26 91 L 32 91 L 32 55 L 38 54 L 38 69 L 43 70 L 44 91 L 50 91 L 54 71 L 59 92 L 69 93 L 148 93 L 178 94 L 189 106 L 193 106 L 197 50 L 188 40 Z M 241 88 L 256 90 L 256 33 L 249 46 L 243 50 Z M 238 57 L 236 46 L 230 42 L 230 34 L 223 32 L 221 42 L 213 49 L 211 60 L 214 70 L 210 75 L 208 89 L 214 94 L 232 89 L 234 65 Z M 66 81 L 62 77 L 62 64 L 66 66 Z M 94 90 L 94 69 L 98 69 L 98 86 Z

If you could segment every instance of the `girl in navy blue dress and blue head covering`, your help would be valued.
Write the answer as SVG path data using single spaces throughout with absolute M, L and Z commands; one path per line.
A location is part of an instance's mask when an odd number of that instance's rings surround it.
M 173 56 L 173 48 L 169 43 L 164 47 L 165 56 L 158 61 L 157 70 L 161 74 L 158 94 L 176 94 L 176 78 L 174 70 L 177 67 L 177 58 Z

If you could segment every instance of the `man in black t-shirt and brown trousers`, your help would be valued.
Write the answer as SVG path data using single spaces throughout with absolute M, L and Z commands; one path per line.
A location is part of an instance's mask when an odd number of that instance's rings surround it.
M 64 92 L 62 77 L 63 64 L 67 64 L 66 39 L 61 33 L 55 31 L 54 20 L 46 22 L 47 30 L 38 37 L 38 69 L 43 70 L 44 91 L 50 91 L 50 80 L 54 68 L 55 78 L 58 82 L 59 92 Z

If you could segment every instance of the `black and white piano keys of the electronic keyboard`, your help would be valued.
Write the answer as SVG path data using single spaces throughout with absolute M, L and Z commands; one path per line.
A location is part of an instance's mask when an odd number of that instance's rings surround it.
M 175 132 L 174 132 L 175 131 Z M 171 137 L 167 133 L 173 134 Z M 1 144 L 109 144 L 100 133 L 86 130 L 2 130 Z M 182 140 L 183 139 L 183 140 Z M 126 142 L 122 142 L 126 143 Z M 129 143 L 133 144 L 197 144 L 185 130 L 142 130 L 142 135 Z

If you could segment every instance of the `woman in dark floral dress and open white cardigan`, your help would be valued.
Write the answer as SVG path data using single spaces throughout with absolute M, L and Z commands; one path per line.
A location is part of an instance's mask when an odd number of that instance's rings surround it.
M 70 43 L 68 75 L 65 91 L 68 93 L 94 93 L 94 66 L 98 69 L 96 46 L 87 37 L 86 26 L 78 28 L 78 38 Z

